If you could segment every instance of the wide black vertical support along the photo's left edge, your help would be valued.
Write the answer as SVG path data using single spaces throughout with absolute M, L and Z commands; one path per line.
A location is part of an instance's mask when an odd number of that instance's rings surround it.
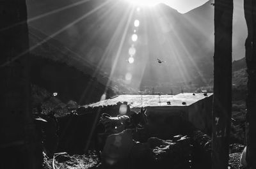
M 0 0 L 0 20 L 0 168 L 42 168 L 31 114 L 29 56 L 20 55 L 29 50 L 26 1 Z

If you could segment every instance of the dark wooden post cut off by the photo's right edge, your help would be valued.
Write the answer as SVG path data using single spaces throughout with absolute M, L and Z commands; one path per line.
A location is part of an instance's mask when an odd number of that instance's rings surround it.
M 246 163 L 256 168 L 256 1 L 244 0 L 244 17 L 248 28 L 245 57 L 248 73 L 246 98 Z

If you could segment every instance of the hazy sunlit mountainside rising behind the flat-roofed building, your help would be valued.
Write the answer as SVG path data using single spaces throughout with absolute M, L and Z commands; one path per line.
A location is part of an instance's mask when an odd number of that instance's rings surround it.
M 92 70 L 111 75 L 111 80 L 116 82 L 113 86 L 120 85 L 119 92 L 145 91 L 152 87 L 156 92 L 170 92 L 170 86 L 173 92 L 179 92 L 181 84 L 183 87 L 184 84 L 196 87 L 209 84 L 213 68 L 213 8 L 210 2 L 186 14 L 165 4 L 154 9 L 143 8 L 140 14 L 134 12 L 131 15 L 130 23 L 129 4 L 125 1 L 108 1 L 99 10 L 91 12 L 103 2 L 86 1 L 66 9 L 65 6 L 76 3 L 71 0 L 28 1 L 29 18 L 65 8 L 29 24 L 51 35 L 86 15 L 54 39 L 83 58 L 81 62 L 73 62 L 75 67 L 81 70 L 81 65 L 90 65 L 94 66 Z M 140 29 L 138 42 L 134 43 L 135 61 L 131 65 L 126 60 L 132 43 L 132 20 L 136 18 L 140 20 Z M 159 65 L 158 57 L 166 62 Z M 127 72 L 132 75 L 131 82 L 125 80 Z

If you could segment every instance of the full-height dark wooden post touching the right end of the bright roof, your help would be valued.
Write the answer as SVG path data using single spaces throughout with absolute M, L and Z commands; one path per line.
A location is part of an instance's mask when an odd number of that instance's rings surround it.
M 212 169 L 228 168 L 232 110 L 232 18 L 233 0 L 215 0 Z

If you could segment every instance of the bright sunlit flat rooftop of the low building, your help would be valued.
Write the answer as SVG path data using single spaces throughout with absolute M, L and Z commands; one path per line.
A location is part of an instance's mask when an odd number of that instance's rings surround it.
M 194 95 L 195 94 L 195 95 Z M 171 94 L 122 94 L 110 99 L 105 99 L 97 103 L 86 105 L 85 107 L 99 107 L 116 105 L 116 103 L 125 101 L 130 105 L 130 108 L 139 107 L 184 107 L 192 105 L 201 99 L 212 96 L 212 93 L 193 93 L 184 92 L 176 95 Z M 170 105 L 167 102 L 170 101 Z M 182 102 L 186 102 L 186 105 L 182 105 Z

